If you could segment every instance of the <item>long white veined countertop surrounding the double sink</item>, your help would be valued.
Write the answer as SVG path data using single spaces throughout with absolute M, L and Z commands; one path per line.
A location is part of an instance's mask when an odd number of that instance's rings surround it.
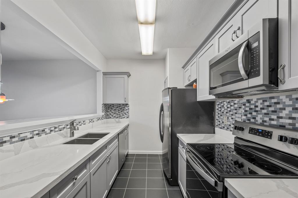
M 103 123 L 85 131 L 75 131 L 74 138 L 88 132 L 109 133 L 94 144 L 63 144 L 74 139 L 69 137 L 63 137 L 40 147 L 32 142 L 30 147 L 34 149 L 1 160 L 0 197 L 41 197 L 128 126 L 128 120 L 120 120 L 122 121 Z M 15 151 L 6 152 L 17 153 L 19 149 L 17 144 L 14 149 Z

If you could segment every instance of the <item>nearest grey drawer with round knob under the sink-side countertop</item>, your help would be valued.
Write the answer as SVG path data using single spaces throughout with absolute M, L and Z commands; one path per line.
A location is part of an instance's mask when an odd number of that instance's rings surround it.
M 62 181 L 60 181 L 54 188 L 50 190 L 51 198 L 64 198 L 66 197 L 83 178 L 88 175 L 89 169 L 89 158 L 83 162 L 79 167 L 67 175 Z M 77 178 L 75 180 L 75 178 Z

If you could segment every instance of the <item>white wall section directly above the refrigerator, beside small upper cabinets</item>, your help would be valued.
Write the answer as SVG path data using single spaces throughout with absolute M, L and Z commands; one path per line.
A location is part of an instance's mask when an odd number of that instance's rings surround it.
M 165 76 L 168 76 L 169 87 L 184 88 L 183 68 L 195 48 L 169 48 L 165 59 Z M 168 64 L 168 65 L 167 65 Z M 167 73 L 168 72 L 168 73 Z

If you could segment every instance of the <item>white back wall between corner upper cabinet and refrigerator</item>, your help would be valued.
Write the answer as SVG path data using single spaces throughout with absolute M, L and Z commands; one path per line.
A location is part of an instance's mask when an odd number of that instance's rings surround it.
M 161 153 L 159 107 L 162 103 L 164 59 L 112 59 L 107 71 L 128 71 L 129 151 Z

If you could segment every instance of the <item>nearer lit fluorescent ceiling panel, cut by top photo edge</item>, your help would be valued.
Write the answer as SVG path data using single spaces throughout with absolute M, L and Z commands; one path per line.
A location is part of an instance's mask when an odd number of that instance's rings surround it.
M 136 0 L 136 14 L 139 24 L 155 23 L 156 0 Z

